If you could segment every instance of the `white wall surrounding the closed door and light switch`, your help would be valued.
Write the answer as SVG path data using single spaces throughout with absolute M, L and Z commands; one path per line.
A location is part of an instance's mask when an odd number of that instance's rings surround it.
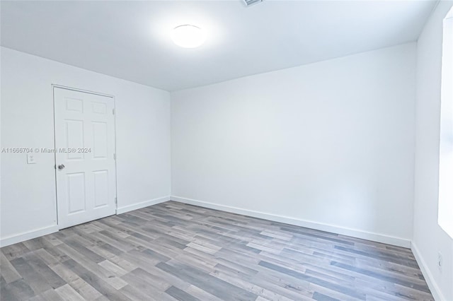
M 120 212 L 168 200 L 170 93 L 1 48 L 1 147 L 53 148 L 51 84 L 115 96 Z M 54 156 L 1 154 L 1 242 L 56 230 Z

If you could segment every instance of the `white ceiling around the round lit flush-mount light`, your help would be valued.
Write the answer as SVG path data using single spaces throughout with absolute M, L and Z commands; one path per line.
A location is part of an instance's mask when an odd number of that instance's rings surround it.
M 415 41 L 436 1 L 1 1 L 1 45 L 180 90 Z M 183 49 L 169 31 L 207 30 Z

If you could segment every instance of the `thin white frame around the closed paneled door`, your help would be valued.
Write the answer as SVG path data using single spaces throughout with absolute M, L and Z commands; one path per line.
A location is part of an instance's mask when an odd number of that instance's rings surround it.
M 117 155 L 116 155 L 116 100 L 115 100 L 115 95 L 111 94 L 106 94 L 106 93 L 99 93 L 99 92 L 94 92 L 91 90 L 84 90 L 84 89 L 79 89 L 79 88 L 73 88 L 69 87 L 67 85 L 58 85 L 55 83 L 52 83 L 51 85 L 52 88 L 52 109 L 53 109 L 53 123 L 54 123 L 54 150 L 57 150 L 57 135 L 56 135 L 56 129 L 55 129 L 55 88 L 60 88 L 60 89 L 66 89 L 66 90 L 71 90 L 71 91 L 76 91 L 76 92 L 81 92 L 81 93 L 88 93 L 88 94 L 93 94 L 93 95 L 100 95 L 100 96 L 105 96 L 108 98 L 111 98 L 113 100 L 113 131 L 114 131 L 114 136 L 115 139 L 113 141 L 114 144 L 114 151 L 115 151 L 115 215 L 118 214 L 118 184 L 117 184 Z M 57 153 L 55 151 L 54 153 L 54 170 L 55 170 L 55 213 L 57 214 L 57 225 L 59 225 L 59 220 L 58 220 L 58 196 L 57 196 Z

